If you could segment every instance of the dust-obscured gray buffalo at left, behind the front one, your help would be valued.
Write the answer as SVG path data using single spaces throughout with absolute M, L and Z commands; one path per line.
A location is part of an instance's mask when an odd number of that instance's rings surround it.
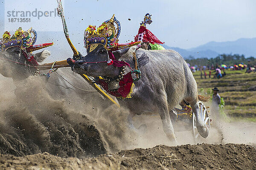
M 50 52 L 44 50 L 32 55 L 37 62 L 42 62 L 50 55 Z M 21 88 L 24 88 L 24 84 L 29 84 L 29 82 L 26 83 L 27 78 L 32 76 L 37 70 L 34 67 L 28 67 L 22 64 L 33 65 L 32 63 L 27 62 L 20 47 L 11 47 L 6 51 L 0 52 L 0 74 L 4 77 L 11 77 L 15 82 L 16 87 L 21 86 Z M 49 70 L 40 71 L 40 74 L 47 74 L 48 71 Z M 70 68 L 60 68 L 57 72 L 72 85 L 89 91 L 82 91 L 73 87 L 55 72 L 50 74 L 49 79 L 47 79 L 46 76 L 35 77 L 38 79 L 38 84 L 44 83 L 44 89 L 47 90 L 54 99 L 71 100 L 73 96 L 79 96 L 81 100 L 84 100 L 93 95 L 97 99 L 102 100 L 102 96 L 98 93 L 90 92 L 95 91 L 95 89 L 92 88 L 79 74 L 70 71 Z M 87 101 L 90 100 L 88 99 Z

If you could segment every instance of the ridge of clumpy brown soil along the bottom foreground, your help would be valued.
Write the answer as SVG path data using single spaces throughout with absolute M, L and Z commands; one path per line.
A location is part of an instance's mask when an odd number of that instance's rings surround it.
M 93 159 L 64 159 L 49 153 L 24 157 L 0 155 L 0 169 L 178 169 L 178 170 L 253 170 L 256 168 L 256 148 L 246 144 L 198 144 L 150 149 L 123 150 L 113 155 Z

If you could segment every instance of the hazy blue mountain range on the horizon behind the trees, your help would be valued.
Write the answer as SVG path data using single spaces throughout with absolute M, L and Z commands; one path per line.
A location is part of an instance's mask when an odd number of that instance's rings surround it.
M 182 49 L 163 45 L 166 49 L 179 52 L 184 58 L 214 58 L 218 54 L 244 54 L 245 57 L 256 56 L 256 38 L 241 38 L 236 41 L 208 42 L 195 48 Z

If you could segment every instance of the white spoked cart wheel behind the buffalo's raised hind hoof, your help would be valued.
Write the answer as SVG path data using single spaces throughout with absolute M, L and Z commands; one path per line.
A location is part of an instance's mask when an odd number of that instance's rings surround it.
M 208 111 L 207 108 L 205 107 L 204 103 L 199 102 L 199 115 L 201 117 L 201 119 L 204 121 L 204 125 L 206 125 L 206 127 L 210 130 L 211 125 L 210 125 L 210 118 L 208 116 Z M 193 138 L 195 141 L 198 140 L 198 138 L 200 138 L 200 134 L 198 133 L 197 127 L 196 127 L 196 118 L 195 118 L 195 113 L 193 112 L 192 115 L 192 133 L 193 133 Z

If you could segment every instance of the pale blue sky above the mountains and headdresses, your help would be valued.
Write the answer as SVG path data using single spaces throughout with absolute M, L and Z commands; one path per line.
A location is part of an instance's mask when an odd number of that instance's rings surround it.
M 57 7 L 57 2 L 52 1 L 49 7 Z M 1 34 L 4 31 L 4 3 L 7 2 L 8 0 L 0 0 Z M 34 0 L 32 6 L 40 8 L 41 3 L 41 0 Z M 119 42 L 134 40 L 140 22 L 149 12 L 152 14 L 153 23 L 147 28 L 161 41 L 166 42 L 166 45 L 179 48 L 193 48 L 209 41 L 223 42 L 256 37 L 255 8 L 255 0 L 64 1 L 67 26 L 75 43 L 83 43 L 84 29 L 89 24 L 99 26 L 112 14 L 115 14 L 122 27 Z M 54 28 L 57 23 L 46 24 Z M 32 25 L 28 25 L 30 26 Z

